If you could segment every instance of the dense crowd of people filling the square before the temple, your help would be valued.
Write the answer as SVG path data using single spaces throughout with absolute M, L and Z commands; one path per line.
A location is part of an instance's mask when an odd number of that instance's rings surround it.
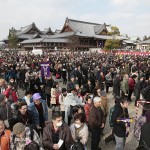
M 50 75 L 42 75 L 42 62 Z M 88 150 L 89 138 L 89 150 L 101 150 L 108 116 L 106 144 L 114 141 L 115 150 L 123 150 L 134 120 L 137 149 L 150 148 L 149 56 L 2 51 L 0 66 L 1 150 Z M 143 111 L 135 120 L 128 105 L 140 101 Z

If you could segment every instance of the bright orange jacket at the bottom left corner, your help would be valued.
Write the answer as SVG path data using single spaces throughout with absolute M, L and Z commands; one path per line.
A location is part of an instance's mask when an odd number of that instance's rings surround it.
M 10 130 L 5 130 L 0 137 L 0 148 L 1 150 L 10 150 Z

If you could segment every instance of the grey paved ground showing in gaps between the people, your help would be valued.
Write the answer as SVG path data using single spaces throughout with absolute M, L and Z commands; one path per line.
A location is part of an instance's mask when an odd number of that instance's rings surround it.
M 64 85 L 62 85 L 62 83 L 60 82 L 60 87 L 64 87 Z M 22 97 L 24 95 L 24 91 L 19 90 L 19 96 Z M 109 108 L 111 108 L 114 104 L 113 104 L 113 97 L 112 97 L 112 89 L 110 89 L 110 93 L 108 94 L 108 98 L 109 98 Z M 129 115 L 130 117 L 135 117 L 135 107 L 134 107 L 134 103 L 130 103 L 129 104 Z M 140 110 L 141 111 L 141 110 Z M 139 114 L 140 114 L 139 111 Z M 49 109 L 49 119 L 51 119 L 51 110 Z M 134 129 L 134 123 L 131 124 L 130 127 L 130 134 L 129 137 L 126 140 L 126 145 L 125 145 L 125 150 L 135 150 L 138 146 L 138 142 L 136 141 L 136 139 L 133 137 L 133 129 Z M 104 137 L 109 135 L 111 133 L 111 128 L 109 127 L 109 123 L 108 123 L 108 118 L 107 118 L 107 122 L 106 122 L 106 126 L 104 129 Z M 104 137 L 101 139 L 100 142 L 100 147 L 102 148 L 102 150 L 114 150 L 115 149 L 115 143 L 114 142 L 110 142 L 109 144 L 105 144 L 104 142 Z M 88 142 L 88 150 L 90 150 L 90 138 L 89 138 L 89 142 Z

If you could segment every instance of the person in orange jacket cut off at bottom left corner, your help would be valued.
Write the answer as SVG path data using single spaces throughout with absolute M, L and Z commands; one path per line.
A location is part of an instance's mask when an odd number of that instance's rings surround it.
M 3 120 L 0 120 L 0 149 L 1 150 L 10 150 L 10 130 L 5 129 L 5 124 Z

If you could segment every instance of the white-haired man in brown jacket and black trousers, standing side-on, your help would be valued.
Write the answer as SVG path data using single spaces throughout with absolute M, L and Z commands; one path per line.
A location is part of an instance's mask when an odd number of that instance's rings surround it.
M 98 147 L 100 142 L 101 130 L 104 128 L 103 112 L 101 110 L 101 98 L 93 99 L 94 105 L 89 113 L 89 125 L 91 129 L 91 150 L 101 150 Z

